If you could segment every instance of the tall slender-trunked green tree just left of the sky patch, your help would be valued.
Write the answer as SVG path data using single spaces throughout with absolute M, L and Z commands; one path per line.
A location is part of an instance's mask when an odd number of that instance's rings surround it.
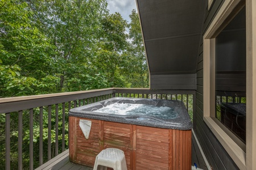
M 90 60 L 97 52 L 97 35 L 106 13 L 105 0 L 30 1 L 34 20 L 56 47 L 52 54 L 53 73 L 59 76 L 57 91 L 82 90 L 82 76 L 94 70 Z M 69 87 L 70 83 L 77 86 Z M 85 89 L 84 89 L 85 90 Z

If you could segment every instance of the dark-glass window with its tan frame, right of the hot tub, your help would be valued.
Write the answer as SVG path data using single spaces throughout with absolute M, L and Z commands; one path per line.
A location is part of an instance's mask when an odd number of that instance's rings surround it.
M 246 169 L 245 2 L 226 0 L 204 35 L 204 121 Z M 234 113 L 235 112 L 235 113 Z M 245 116 L 246 115 L 246 116 Z

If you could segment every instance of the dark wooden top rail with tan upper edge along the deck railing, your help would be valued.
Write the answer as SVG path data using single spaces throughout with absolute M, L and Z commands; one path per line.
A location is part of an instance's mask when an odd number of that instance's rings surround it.
M 53 104 L 66 103 L 90 97 L 109 95 L 113 93 L 123 94 L 179 94 L 194 95 L 194 90 L 150 90 L 149 88 L 103 88 L 98 90 L 64 92 L 59 94 L 9 97 L 0 99 L 0 114 L 25 109 L 44 107 Z

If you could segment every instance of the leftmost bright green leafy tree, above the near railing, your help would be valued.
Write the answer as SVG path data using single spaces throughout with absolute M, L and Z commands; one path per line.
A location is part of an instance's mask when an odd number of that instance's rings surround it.
M 0 96 L 35 94 L 54 46 L 31 22 L 26 2 L 1 1 L 0 8 Z

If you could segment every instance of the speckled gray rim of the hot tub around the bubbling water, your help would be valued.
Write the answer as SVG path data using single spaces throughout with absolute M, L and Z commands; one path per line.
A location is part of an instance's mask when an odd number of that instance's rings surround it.
M 146 104 L 157 107 L 166 106 L 175 109 L 178 113 L 177 118 L 164 120 L 155 116 L 142 115 L 119 115 L 111 113 L 99 113 L 100 109 L 112 103 L 132 103 L 132 104 Z M 92 112 L 92 109 L 94 112 Z M 95 110 L 94 110 L 95 109 Z M 141 126 L 150 126 L 154 128 L 176 129 L 176 130 L 191 130 L 192 122 L 188 115 L 187 109 L 182 101 L 179 100 L 163 100 L 163 99 L 141 99 L 129 97 L 113 97 L 110 99 L 98 101 L 96 103 L 84 105 L 73 108 L 69 111 L 69 116 L 90 118 L 94 120 L 119 122 L 124 124 L 133 124 Z

